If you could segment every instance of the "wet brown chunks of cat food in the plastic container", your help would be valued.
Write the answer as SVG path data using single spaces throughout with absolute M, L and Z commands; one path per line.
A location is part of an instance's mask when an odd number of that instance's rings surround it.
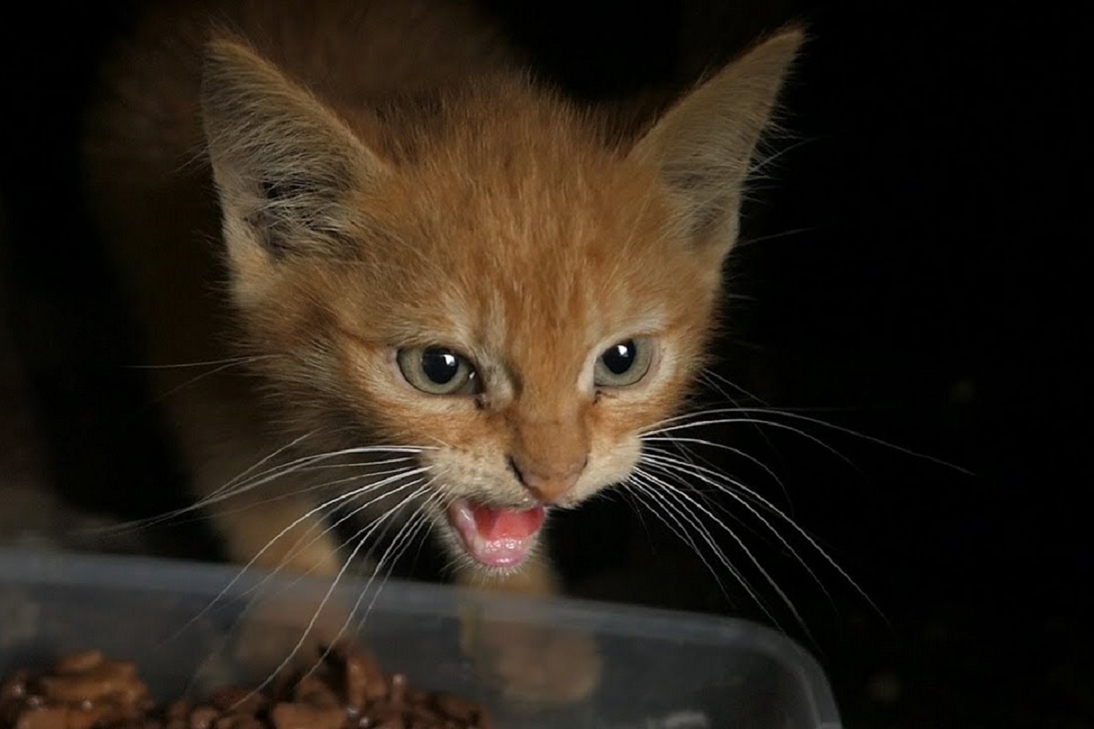
M 61 656 L 49 671 L 0 682 L 3 729 L 492 729 L 472 701 L 408 685 L 342 643 L 314 671 L 287 674 L 268 692 L 228 686 L 205 703 L 151 699 L 137 667 L 100 651 Z

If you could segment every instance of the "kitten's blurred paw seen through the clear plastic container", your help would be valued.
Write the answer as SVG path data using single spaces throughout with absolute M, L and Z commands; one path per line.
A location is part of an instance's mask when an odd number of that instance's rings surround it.
M 519 704 L 559 705 L 586 698 L 603 659 L 586 633 L 463 618 L 462 645 L 480 677 Z

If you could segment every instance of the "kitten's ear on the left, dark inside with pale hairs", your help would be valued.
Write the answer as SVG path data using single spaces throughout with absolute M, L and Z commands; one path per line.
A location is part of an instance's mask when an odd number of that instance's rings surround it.
M 208 47 L 201 114 L 236 275 L 345 246 L 345 202 L 385 174 L 333 111 L 254 50 Z

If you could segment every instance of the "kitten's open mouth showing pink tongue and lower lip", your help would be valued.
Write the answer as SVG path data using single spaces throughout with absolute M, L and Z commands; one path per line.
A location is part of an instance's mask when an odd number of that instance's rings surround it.
M 449 507 L 449 522 L 467 553 L 488 567 L 521 564 L 535 544 L 545 517 L 543 506 L 524 510 L 492 508 L 457 498 Z

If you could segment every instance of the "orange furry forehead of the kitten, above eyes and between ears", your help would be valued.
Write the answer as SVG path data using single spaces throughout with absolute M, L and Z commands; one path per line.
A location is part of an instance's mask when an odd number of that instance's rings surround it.
M 362 293 L 387 309 L 388 341 L 570 377 L 617 338 L 659 333 L 689 306 L 702 316 L 688 301 L 697 261 L 652 169 L 549 104 L 480 109 L 450 132 L 360 199 L 387 234 L 362 236 L 383 269 Z

